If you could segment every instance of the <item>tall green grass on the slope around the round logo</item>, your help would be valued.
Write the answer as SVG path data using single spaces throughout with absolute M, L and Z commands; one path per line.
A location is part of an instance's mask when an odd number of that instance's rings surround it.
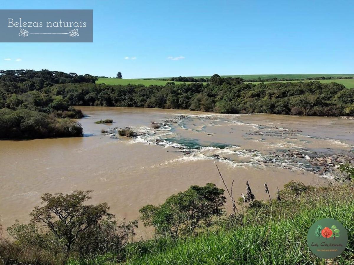
M 354 188 L 352 184 L 281 190 L 282 200 L 255 201 L 238 217 L 224 217 L 196 236 L 160 237 L 131 243 L 124 264 L 354 264 Z M 272 218 L 270 214 L 272 213 Z M 346 250 L 335 259 L 317 258 L 307 246 L 310 226 L 334 218 L 348 232 Z M 68 264 L 116 264 L 114 254 Z

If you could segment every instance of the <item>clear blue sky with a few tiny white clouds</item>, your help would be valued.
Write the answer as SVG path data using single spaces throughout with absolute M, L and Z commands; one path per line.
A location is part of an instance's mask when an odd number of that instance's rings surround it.
M 353 1 L 1 0 L 1 9 L 20 8 L 93 9 L 93 42 L 0 43 L 1 70 L 123 78 L 354 73 Z

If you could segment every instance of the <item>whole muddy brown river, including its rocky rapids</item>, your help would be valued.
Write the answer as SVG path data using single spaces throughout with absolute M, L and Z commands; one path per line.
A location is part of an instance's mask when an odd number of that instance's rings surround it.
M 354 120 L 270 114 L 223 115 L 182 110 L 80 107 L 85 137 L 0 141 L 0 219 L 27 222 L 44 193 L 92 189 L 92 203 L 108 202 L 116 218 L 139 217 L 190 185 L 216 183 L 219 166 L 234 194 L 249 181 L 266 199 L 290 180 L 322 184 L 336 164 L 353 157 Z M 94 124 L 99 119 L 113 124 Z M 161 124 L 150 129 L 150 122 Z M 127 139 L 115 127 L 139 135 Z M 102 134 L 101 129 L 109 129 Z M 227 205 L 229 211 L 230 205 Z M 138 234 L 148 236 L 141 226 Z

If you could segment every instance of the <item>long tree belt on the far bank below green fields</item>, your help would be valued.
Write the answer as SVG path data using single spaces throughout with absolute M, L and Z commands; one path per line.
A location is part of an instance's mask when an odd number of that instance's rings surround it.
M 43 90 L 71 105 L 174 108 L 219 113 L 274 113 L 315 116 L 354 115 L 354 89 L 338 83 L 243 83 L 213 76 L 209 84 L 166 86 L 56 84 Z

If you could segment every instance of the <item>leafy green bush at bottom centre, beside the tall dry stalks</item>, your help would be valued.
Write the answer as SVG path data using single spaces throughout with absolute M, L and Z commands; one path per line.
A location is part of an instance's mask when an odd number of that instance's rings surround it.
M 223 213 L 221 207 L 226 201 L 223 193 L 223 189 L 212 183 L 204 187 L 193 185 L 185 192 L 170 196 L 159 206 L 142 207 L 139 210 L 141 220 L 162 235 L 192 234 L 201 222 L 209 226 L 213 216 Z

